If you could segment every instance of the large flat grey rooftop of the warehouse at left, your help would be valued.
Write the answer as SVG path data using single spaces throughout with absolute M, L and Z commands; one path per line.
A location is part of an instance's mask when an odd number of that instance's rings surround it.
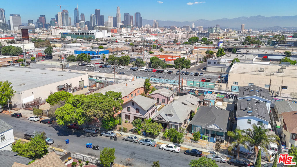
M 45 86 L 51 83 L 88 75 L 64 71 L 41 70 L 24 67 L 0 68 L 0 81 L 10 81 L 16 92 Z

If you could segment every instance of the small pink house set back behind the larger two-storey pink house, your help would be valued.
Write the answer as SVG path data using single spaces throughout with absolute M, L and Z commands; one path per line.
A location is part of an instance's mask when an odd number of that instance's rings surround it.
M 152 99 L 157 100 L 157 103 L 169 104 L 173 101 L 174 93 L 166 88 L 158 89 L 149 94 Z

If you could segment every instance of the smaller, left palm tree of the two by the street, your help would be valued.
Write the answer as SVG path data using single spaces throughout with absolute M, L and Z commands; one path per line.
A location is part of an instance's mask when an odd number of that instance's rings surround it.
M 234 139 L 234 141 L 230 143 L 228 150 L 231 151 L 236 147 L 236 154 L 237 154 L 237 157 L 239 158 L 240 146 L 244 146 L 244 148 L 247 148 L 247 144 L 244 141 L 244 135 L 245 135 L 244 130 L 236 128 L 234 131 L 228 131 L 227 135 L 230 138 Z

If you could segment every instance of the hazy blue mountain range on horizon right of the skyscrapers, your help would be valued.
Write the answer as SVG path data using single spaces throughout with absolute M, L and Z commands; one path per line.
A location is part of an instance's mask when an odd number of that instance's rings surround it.
M 199 19 L 196 21 L 161 21 L 157 20 L 159 23 L 159 27 L 163 26 L 191 26 L 192 23 L 195 26 L 203 26 L 203 27 L 214 27 L 217 24 L 223 28 L 232 28 L 234 30 L 240 30 L 241 24 L 245 25 L 245 29 L 263 29 L 266 27 L 297 27 L 297 15 L 295 16 L 272 16 L 265 17 L 261 15 L 250 16 L 250 17 L 238 17 L 238 18 L 221 18 L 217 20 L 204 20 Z M 146 24 L 153 25 L 154 20 L 146 20 L 142 19 L 143 26 Z

